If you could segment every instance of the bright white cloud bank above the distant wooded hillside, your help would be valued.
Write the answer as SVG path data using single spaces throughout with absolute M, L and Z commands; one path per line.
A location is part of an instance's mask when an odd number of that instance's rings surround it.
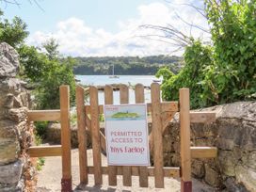
M 155 40 L 148 38 L 149 35 L 163 35 L 163 32 L 139 26 L 143 24 L 162 26 L 171 24 L 186 35 L 191 34 L 197 38 L 205 35 L 197 28 L 191 30 L 191 27 L 184 24 L 179 18 L 183 18 L 185 22 L 190 24 L 207 27 L 205 20 L 194 8 L 178 5 L 180 2 L 176 0 L 168 5 L 162 3 L 141 5 L 137 8 L 139 13 L 137 18 L 118 22 L 120 27 L 118 33 L 111 33 L 103 28 L 93 29 L 81 19 L 72 17 L 57 23 L 56 31 L 52 33 L 38 31 L 32 34 L 28 39 L 28 43 L 39 46 L 45 40 L 55 38 L 60 45 L 60 53 L 68 56 L 151 56 L 171 54 L 177 47 L 160 41 L 157 37 L 153 37 Z M 142 36 L 147 37 L 142 38 Z M 181 54 L 181 52 L 178 54 Z

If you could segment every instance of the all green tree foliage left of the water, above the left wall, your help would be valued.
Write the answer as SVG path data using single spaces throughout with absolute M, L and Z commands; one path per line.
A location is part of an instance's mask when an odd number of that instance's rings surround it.
M 72 103 L 75 81 L 72 72 L 74 59 L 59 56 L 56 40 L 50 39 L 39 49 L 24 43 L 28 36 L 26 24 L 15 17 L 8 21 L 0 12 L 0 41 L 8 42 L 20 55 L 20 77 L 32 85 L 36 107 L 39 109 L 59 107 L 59 86 L 70 85 Z M 41 51 L 43 49 L 43 51 Z

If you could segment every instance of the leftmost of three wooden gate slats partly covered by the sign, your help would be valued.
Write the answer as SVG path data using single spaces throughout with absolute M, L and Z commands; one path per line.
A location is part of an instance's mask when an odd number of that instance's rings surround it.
M 111 86 L 104 87 L 104 104 L 113 104 L 113 88 Z M 117 185 L 117 167 L 108 167 L 108 184 Z

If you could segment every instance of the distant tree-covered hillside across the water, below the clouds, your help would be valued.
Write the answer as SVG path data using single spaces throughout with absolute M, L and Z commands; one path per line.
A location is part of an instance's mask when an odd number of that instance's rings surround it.
M 179 56 L 103 56 L 103 57 L 75 57 L 77 65 L 75 74 L 155 74 L 160 68 L 168 67 L 177 73 L 183 59 Z

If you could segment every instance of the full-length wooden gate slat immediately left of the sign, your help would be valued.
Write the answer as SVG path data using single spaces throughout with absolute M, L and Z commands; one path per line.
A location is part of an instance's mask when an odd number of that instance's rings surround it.
M 90 87 L 89 96 L 90 96 L 89 103 L 91 106 L 90 129 L 91 129 L 91 137 L 92 137 L 94 182 L 95 184 L 103 184 L 99 107 L 98 107 L 98 89 L 95 87 Z

